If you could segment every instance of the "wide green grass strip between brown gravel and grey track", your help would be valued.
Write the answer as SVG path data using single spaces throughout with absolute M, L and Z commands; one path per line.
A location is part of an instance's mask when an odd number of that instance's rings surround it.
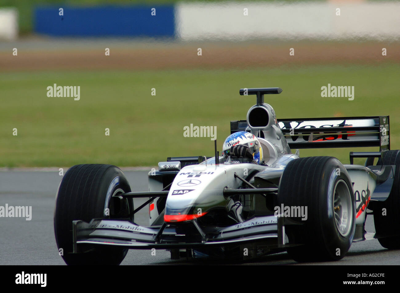
M 211 156 L 214 142 L 185 138 L 183 127 L 216 126 L 221 149 L 230 120 L 245 119 L 255 104 L 254 96 L 238 94 L 243 87 L 282 87 L 282 94 L 266 96 L 278 118 L 390 115 L 391 147 L 400 149 L 398 76 L 398 64 L 2 73 L 0 166 L 151 166 L 170 156 Z M 48 98 L 46 88 L 53 83 L 80 86 L 80 100 Z M 354 100 L 322 98 L 320 87 L 328 83 L 354 86 Z M 356 150 L 301 150 L 300 155 L 333 155 L 348 163 L 348 152 Z

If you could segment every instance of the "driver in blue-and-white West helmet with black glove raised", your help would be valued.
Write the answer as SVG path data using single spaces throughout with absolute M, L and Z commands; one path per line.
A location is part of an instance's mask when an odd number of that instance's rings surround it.
M 257 137 L 247 131 L 232 133 L 224 141 L 222 154 L 225 158 L 247 158 L 263 165 L 262 147 Z

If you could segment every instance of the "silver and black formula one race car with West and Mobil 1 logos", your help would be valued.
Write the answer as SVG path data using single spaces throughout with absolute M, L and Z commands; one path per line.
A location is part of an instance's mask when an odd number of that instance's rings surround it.
M 400 248 L 400 151 L 390 150 L 389 116 L 276 119 L 264 94 L 280 92 L 241 89 L 257 103 L 246 120 L 231 121 L 222 156 L 215 148 L 211 158 L 168 158 L 149 172 L 148 192 L 131 192 L 115 166 L 70 168 L 54 213 L 64 261 L 118 265 L 128 249 L 153 248 L 172 259 L 288 251 L 296 261 L 338 260 L 352 242 L 374 238 Z M 350 165 L 290 150 L 375 146 L 379 152 L 351 152 Z M 149 199 L 134 209 L 140 197 Z M 144 207 L 148 227 L 134 222 Z M 376 233 L 364 230 L 367 215 Z

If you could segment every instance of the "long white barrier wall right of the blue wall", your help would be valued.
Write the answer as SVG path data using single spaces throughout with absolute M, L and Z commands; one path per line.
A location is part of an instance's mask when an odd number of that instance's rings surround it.
M 176 4 L 175 23 L 176 34 L 183 40 L 399 40 L 400 2 L 180 2 Z

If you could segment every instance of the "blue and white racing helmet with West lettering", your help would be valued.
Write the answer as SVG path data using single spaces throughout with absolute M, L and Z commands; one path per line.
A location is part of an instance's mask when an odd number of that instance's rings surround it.
M 222 154 L 224 157 L 229 155 L 230 148 L 235 145 L 243 145 L 248 147 L 253 155 L 254 161 L 256 161 L 256 163 L 259 165 L 262 164 L 262 147 L 254 134 L 251 134 L 247 131 L 238 131 L 228 136 L 224 141 L 224 145 L 222 146 Z

